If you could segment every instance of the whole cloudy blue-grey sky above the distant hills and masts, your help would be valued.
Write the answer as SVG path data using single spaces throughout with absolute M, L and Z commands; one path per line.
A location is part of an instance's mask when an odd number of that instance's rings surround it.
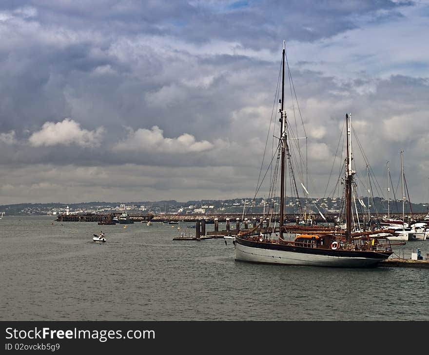
M 1 1 L 0 205 L 253 196 L 283 40 L 310 195 L 351 112 L 380 186 L 403 150 L 429 202 L 428 22 L 428 0 Z

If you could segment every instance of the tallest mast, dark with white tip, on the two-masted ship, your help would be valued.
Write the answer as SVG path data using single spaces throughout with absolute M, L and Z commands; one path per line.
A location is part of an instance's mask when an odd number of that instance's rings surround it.
M 284 97 L 285 97 L 285 56 L 286 56 L 286 44 L 283 41 L 282 51 L 282 98 L 280 107 L 280 140 L 281 140 L 281 169 L 280 169 L 280 238 L 283 239 L 283 221 L 284 221 L 284 199 L 285 199 L 285 150 L 286 150 L 286 111 L 284 110 Z

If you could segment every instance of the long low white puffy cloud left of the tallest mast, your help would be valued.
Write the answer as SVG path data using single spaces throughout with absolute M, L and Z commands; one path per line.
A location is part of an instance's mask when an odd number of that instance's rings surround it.
M 210 150 L 214 145 L 208 141 L 196 142 L 191 134 L 184 133 L 177 138 L 164 137 L 158 126 L 151 129 L 139 128 L 130 131 L 128 137 L 116 144 L 117 151 L 155 151 L 163 153 L 189 153 Z

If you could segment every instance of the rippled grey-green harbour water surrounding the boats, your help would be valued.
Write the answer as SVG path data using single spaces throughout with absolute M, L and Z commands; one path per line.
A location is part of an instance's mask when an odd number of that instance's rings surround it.
M 223 239 L 173 241 L 190 223 L 62 224 L 0 220 L 0 320 L 429 320 L 428 268 L 256 265 Z

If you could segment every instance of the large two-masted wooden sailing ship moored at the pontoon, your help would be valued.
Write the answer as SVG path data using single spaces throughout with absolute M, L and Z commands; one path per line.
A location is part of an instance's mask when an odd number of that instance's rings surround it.
M 276 174 L 280 177 L 280 212 L 276 228 L 261 227 L 259 223 L 250 231 L 239 231 L 234 237 L 235 260 L 280 265 L 307 265 L 307 266 L 336 266 L 336 267 L 371 267 L 387 259 L 392 253 L 390 241 L 385 235 L 378 236 L 377 232 L 351 230 L 351 203 L 352 186 L 355 171 L 351 166 L 351 115 L 346 114 L 347 154 L 345 169 L 346 191 L 346 228 L 321 226 L 283 225 L 285 215 L 285 160 L 291 159 L 288 145 L 288 127 L 286 110 L 284 108 L 284 80 L 285 80 L 285 43 L 282 51 L 282 81 L 280 103 L 280 135 L 276 155 L 280 166 L 276 165 Z M 289 70 L 289 66 L 288 66 Z M 290 77 L 290 76 L 289 76 Z M 289 171 L 292 169 L 289 165 Z M 291 172 L 292 175 L 292 172 Z M 290 178 L 294 181 L 294 177 Z M 275 179 L 276 181 L 278 178 Z M 276 191 L 272 189 L 271 191 Z M 286 240 L 286 236 L 294 236 L 293 240 Z M 383 233 L 385 234 L 385 233 Z

